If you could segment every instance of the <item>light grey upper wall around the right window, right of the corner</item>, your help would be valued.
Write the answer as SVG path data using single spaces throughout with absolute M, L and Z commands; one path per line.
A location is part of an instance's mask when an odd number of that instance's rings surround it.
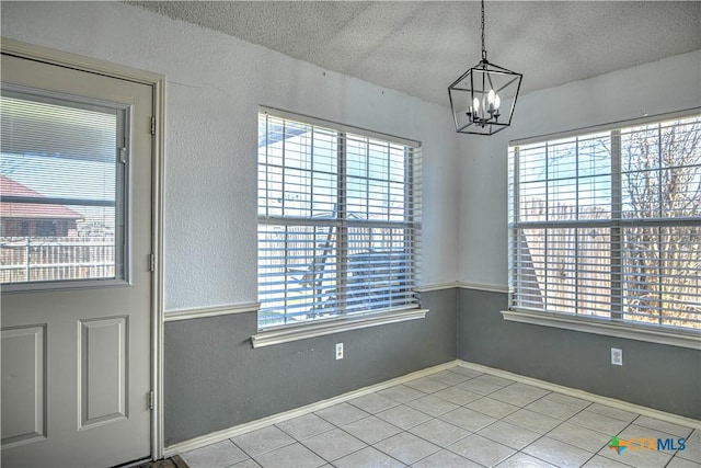
M 699 107 L 700 83 L 697 50 L 524 95 L 510 128 L 492 137 L 461 138 L 459 281 L 507 285 L 509 140 Z

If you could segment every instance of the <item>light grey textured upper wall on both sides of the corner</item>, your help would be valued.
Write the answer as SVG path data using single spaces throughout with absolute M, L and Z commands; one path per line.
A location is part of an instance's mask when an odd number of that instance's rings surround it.
M 166 77 L 168 310 L 256 299 L 258 104 L 423 142 L 427 285 L 506 285 L 508 140 L 701 105 L 696 52 L 524 95 L 512 128 L 456 137 L 444 107 L 123 3 L 3 1 L 1 20 L 4 37 Z

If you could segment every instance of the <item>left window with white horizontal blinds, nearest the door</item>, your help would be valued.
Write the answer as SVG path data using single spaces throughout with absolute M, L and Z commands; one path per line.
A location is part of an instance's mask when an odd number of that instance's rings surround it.
M 304 119 L 258 114 L 258 328 L 418 307 L 418 145 Z

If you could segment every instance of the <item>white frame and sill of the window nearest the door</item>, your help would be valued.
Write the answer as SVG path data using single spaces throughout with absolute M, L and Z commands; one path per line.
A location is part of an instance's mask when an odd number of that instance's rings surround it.
M 329 122 L 315 117 L 310 117 L 306 115 L 295 114 L 287 111 L 280 111 L 273 107 L 260 106 L 257 118 L 279 118 L 285 122 L 291 121 L 294 123 L 299 123 L 302 125 L 308 125 L 312 128 L 323 128 L 324 130 L 331 130 L 334 134 L 334 145 L 336 148 L 335 156 L 335 167 L 336 167 L 336 178 L 335 184 L 336 190 L 334 196 L 336 197 L 337 209 L 334 213 L 334 217 L 331 219 L 317 219 L 313 217 L 313 213 L 310 212 L 308 216 L 285 216 L 283 213 L 281 216 L 271 216 L 267 213 L 271 207 L 267 204 L 267 196 L 261 195 L 261 192 L 256 195 L 257 206 L 258 206 L 258 215 L 257 222 L 258 232 L 261 226 L 307 226 L 307 227 L 318 227 L 322 226 L 324 228 L 334 229 L 334 246 L 337 248 L 335 252 L 336 258 L 341 259 L 337 262 L 335 275 L 337 277 L 336 283 L 338 283 L 335 288 L 344 288 L 347 287 L 347 282 L 344 279 L 346 277 L 347 267 L 346 264 L 348 259 L 350 258 L 352 248 L 349 247 L 348 239 L 352 237 L 350 230 L 354 228 L 360 229 L 371 229 L 375 227 L 389 228 L 389 229 L 398 229 L 403 232 L 403 237 L 405 240 L 403 242 L 404 252 L 410 259 L 406 278 L 410 282 L 406 284 L 407 293 L 406 297 L 411 298 L 405 301 L 404 305 L 399 307 L 384 308 L 381 310 L 376 309 L 364 309 L 358 311 L 343 310 L 341 312 L 336 312 L 330 317 L 321 317 L 313 319 L 303 319 L 299 322 L 295 323 L 283 323 L 283 324 L 262 324 L 261 322 L 261 310 L 258 310 L 257 318 L 257 329 L 258 333 L 252 336 L 252 344 L 254 347 L 277 344 L 287 341 L 294 341 L 310 336 L 317 336 L 322 334 L 335 333 L 338 331 L 353 330 L 358 328 L 374 327 L 378 324 L 392 323 L 397 321 L 404 320 L 414 320 L 417 318 L 424 318 L 426 315 L 426 310 L 421 308 L 416 288 L 418 287 L 421 279 L 421 142 L 415 140 L 409 140 L 404 138 L 399 138 L 394 136 L 389 136 L 382 133 L 366 130 L 357 127 L 352 127 L 344 124 L 337 124 L 334 122 Z M 267 132 L 267 130 L 266 130 Z M 346 171 L 346 162 L 348 159 L 348 155 L 346 151 L 346 144 L 349 139 L 346 138 L 346 134 L 352 134 L 352 136 L 358 136 L 361 138 L 366 138 L 368 140 L 380 140 L 382 144 L 388 144 L 388 150 L 392 145 L 399 145 L 405 147 L 405 150 L 410 150 L 410 155 L 404 156 L 404 184 L 403 184 L 403 203 L 405 204 L 403 207 L 404 215 L 402 220 L 391 220 L 388 218 L 386 221 L 376 221 L 371 219 L 349 219 L 347 216 L 347 205 L 346 199 L 348 197 L 346 193 L 346 185 L 350 176 Z M 261 135 L 258 135 L 260 137 Z M 369 142 L 368 142 L 369 145 Z M 389 157 L 389 152 L 388 152 Z M 256 159 L 260 158 L 256 155 Z M 406 167 L 406 160 L 410 161 L 410 167 Z M 257 159 L 256 168 L 260 171 L 261 161 Z M 415 165 L 418 165 L 416 168 Z M 390 178 L 390 175 L 388 175 Z M 390 179 L 387 181 L 390 182 Z M 309 187 L 309 190 L 313 190 L 313 187 Z M 311 192 L 313 193 L 313 192 Z M 264 196 L 265 198 L 261 198 Z M 366 195 L 367 196 L 367 195 Z M 264 209 L 265 213 L 261 213 L 261 209 Z M 383 209 L 387 209 L 383 207 Z M 384 213 L 384 212 L 382 212 Z M 389 212 L 388 212 L 389 213 Z M 388 216 L 390 216 L 388 214 Z M 410 238 L 407 238 L 410 236 Z M 352 243 L 352 242 L 350 242 Z M 335 249 L 335 248 L 334 248 Z M 261 250 L 258 244 L 258 262 L 261 261 Z M 284 254 L 284 252 L 283 252 Z M 264 300 L 261 296 L 261 269 L 258 266 L 258 301 L 264 304 Z M 288 279 L 285 279 L 285 283 L 288 283 Z M 343 294 L 338 295 L 340 297 L 336 299 L 340 304 L 345 303 L 343 298 Z M 345 306 L 344 306 L 345 308 Z

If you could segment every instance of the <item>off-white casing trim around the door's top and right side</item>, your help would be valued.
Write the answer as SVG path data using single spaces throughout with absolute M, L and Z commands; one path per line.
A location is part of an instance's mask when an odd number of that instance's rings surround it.
M 156 118 L 151 145 L 151 246 L 154 254 L 151 276 L 151 459 L 163 458 L 163 168 L 165 148 L 165 77 L 48 47 L 27 44 L 10 38 L 0 38 L 2 54 L 45 64 L 72 68 L 80 71 L 104 75 L 127 81 L 147 84 L 153 90 L 151 104 Z M 129 461 L 129 460 L 125 460 Z

